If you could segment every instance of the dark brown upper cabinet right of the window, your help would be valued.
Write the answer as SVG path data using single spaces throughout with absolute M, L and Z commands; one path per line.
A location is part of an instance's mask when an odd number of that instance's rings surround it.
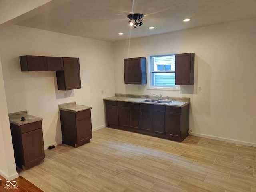
M 194 85 L 195 53 L 175 55 L 175 85 Z

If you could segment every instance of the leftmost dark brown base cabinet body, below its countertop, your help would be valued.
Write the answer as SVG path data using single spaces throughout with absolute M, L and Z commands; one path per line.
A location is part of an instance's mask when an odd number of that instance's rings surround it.
M 30 168 L 45 158 L 42 121 L 10 127 L 16 166 Z

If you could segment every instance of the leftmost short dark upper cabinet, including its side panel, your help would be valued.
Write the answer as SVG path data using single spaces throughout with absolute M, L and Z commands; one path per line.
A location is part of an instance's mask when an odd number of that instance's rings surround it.
M 42 56 L 21 56 L 21 71 L 48 71 L 47 59 Z

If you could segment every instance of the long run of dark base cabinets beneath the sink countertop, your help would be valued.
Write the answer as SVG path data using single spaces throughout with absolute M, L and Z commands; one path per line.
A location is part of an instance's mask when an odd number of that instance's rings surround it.
M 174 107 L 123 101 L 105 101 L 109 127 L 174 141 L 188 136 L 189 105 Z

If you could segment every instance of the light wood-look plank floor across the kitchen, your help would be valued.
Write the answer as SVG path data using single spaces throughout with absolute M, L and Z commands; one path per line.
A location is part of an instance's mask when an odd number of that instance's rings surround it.
M 256 192 L 256 148 L 189 136 L 182 143 L 103 128 L 45 151 L 19 174 L 45 192 Z

